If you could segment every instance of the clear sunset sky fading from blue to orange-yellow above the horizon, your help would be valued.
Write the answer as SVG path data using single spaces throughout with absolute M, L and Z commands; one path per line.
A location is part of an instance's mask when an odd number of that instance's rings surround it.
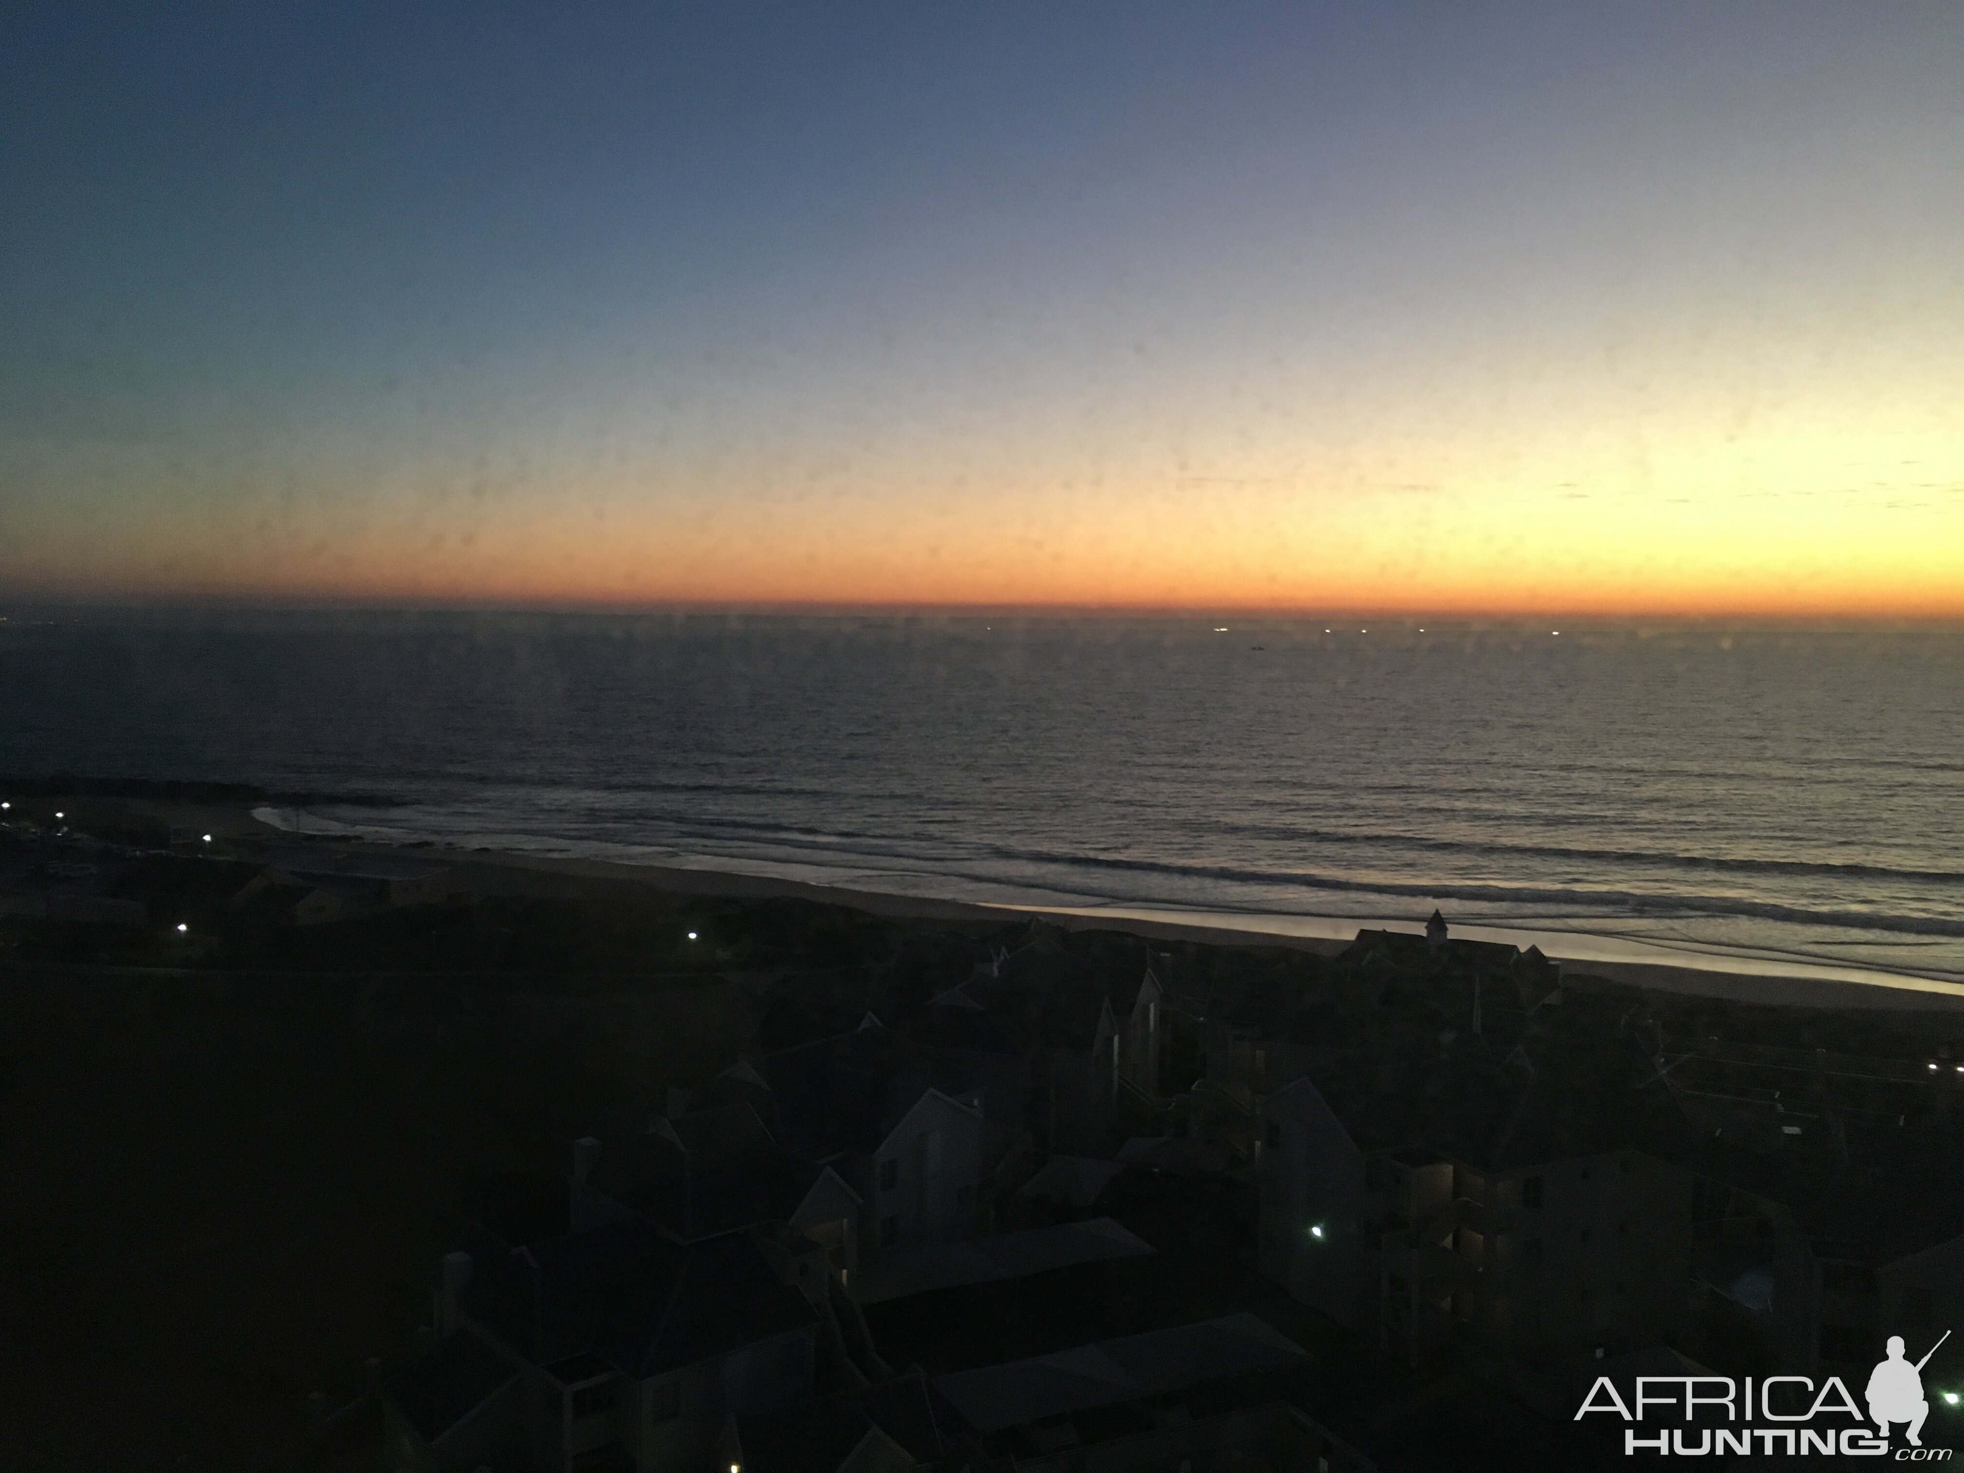
M 1964 617 L 1964 6 L 27 4 L 0 597 Z

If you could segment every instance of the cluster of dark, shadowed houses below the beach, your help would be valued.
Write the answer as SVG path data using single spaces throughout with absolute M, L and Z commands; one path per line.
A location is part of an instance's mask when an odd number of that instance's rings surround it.
M 1249 1312 L 888 1359 L 874 1306 L 1149 1259 L 1098 1216 L 1125 1171 L 1253 1184 L 1247 1249 L 1300 1306 L 1559 1420 L 1614 1367 L 1866 1373 L 1964 1320 L 1948 1064 L 1671 1039 L 1438 915 L 1330 960 L 1143 949 L 1033 925 L 595 1121 L 564 1192 L 442 1261 L 389 1467 L 1373 1467 Z

